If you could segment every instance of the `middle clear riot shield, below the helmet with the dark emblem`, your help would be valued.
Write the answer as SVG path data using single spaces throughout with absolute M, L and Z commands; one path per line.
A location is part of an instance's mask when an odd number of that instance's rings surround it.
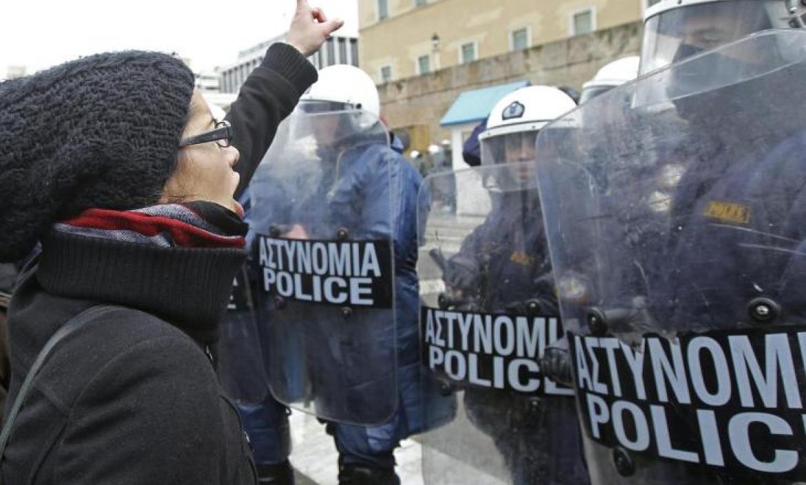
M 563 328 L 534 162 L 430 176 L 422 193 L 445 176 L 453 203 L 420 197 L 420 335 L 423 370 L 459 408 L 447 423 L 432 412 L 444 407 L 423 410 L 425 483 L 584 485 L 571 389 L 541 371 Z

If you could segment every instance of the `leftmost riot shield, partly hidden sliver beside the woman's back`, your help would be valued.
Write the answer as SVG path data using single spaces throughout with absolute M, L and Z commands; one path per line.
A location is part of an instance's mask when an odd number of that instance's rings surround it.
M 243 404 L 263 402 L 268 393 L 255 302 L 254 279 L 243 267 L 232 284 L 213 359 L 222 388 Z

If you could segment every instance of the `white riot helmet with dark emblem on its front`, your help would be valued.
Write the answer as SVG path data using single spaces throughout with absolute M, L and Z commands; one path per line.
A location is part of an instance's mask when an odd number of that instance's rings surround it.
M 573 110 L 570 96 L 550 86 L 526 86 L 496 103 L 479 135 L 481 164 L 534 161 L 538 131 L 562 114 Z

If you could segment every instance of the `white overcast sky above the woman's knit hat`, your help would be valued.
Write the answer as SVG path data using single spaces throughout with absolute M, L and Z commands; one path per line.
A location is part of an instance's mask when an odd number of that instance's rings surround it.
M 355 0 L 309 0 L 355 35 Z M 195 70 L 234 62 L 239 50 L 283 33 L 296 0 L 8 0 L 2 2 L 0 77 L 127 48 L 177 52 Z

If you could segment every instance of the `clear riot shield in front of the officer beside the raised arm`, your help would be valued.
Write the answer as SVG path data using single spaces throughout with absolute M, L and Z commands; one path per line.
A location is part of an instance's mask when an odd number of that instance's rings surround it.
M 264 360 L 277 400 L 378 425 L 397 407 L 388 134 L 301 104 L 251 181 Z

